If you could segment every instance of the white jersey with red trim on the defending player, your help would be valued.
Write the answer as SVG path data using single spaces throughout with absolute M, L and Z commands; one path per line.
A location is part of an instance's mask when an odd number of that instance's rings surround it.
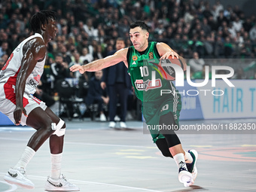
M 43 38 L 39 33 L 26 38 L 22 41 L 15 50 L 11 53 L 11 56 L 8 58 L 5 66 L 0 71 L 0 83 L 12 84 L 13 87 L 16 85 L 17 75 L 20 72 L 21 61 L 23 59 L 23 46 L 27 41 L 32 38 L 40 37 Z M 37 62 L 32 73 L 26 79 L 25 93 L 34 94 L 36 87 L 39 84 L 41 75 L 44 72 L 44 63 L 45 56 L 41 62 Z

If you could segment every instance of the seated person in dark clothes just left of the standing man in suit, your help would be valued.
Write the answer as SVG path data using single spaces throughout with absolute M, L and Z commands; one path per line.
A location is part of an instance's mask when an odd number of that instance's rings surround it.
M 99 120 L 106 121 L 107 118 L 105 117 L 103 111 L 103 104 L 108 105 L 108 96 L 106 95 L 105 91 L 102 90 L 100 86 L 101 79 L 102 79 L 103 72 L 99 70 L 95 72 L 95 77 L 91 78 L 89 81 L 89 89 L 87 93 L 87 98 L 85 99 L 87 105 L 98 104 L 99 105 Z

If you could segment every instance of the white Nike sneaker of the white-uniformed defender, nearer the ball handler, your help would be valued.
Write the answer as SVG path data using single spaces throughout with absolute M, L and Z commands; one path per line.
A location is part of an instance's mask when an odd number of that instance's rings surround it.
M 80 191 L 79 187 L 67 181 L 64 175 L 60 175 L 58 180 L 48 176 L 44 189 L 50 191 Z

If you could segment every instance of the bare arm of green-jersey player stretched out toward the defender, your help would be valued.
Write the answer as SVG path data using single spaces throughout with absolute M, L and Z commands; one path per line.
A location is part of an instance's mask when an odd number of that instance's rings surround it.
M 127 52 L 128 52 L 128 48 L 123 48 L 121 50 L 117 50 L 117 52 L 111 56 L 106 56 L 103 59 L 95 60 L 86 65 L 83 65 L 83 66 L 74 65 L 74 66 L 70 67 L 70 71 L 72 71 L 72 72 L 79 71 L 81 74 L 83 74 L 84 72 L 96 72 L 101 69 L 105 69 L 109 66 L 114 66 L 118 62 L 123 61 L 124 63 L 127 63 L 126 62 Z

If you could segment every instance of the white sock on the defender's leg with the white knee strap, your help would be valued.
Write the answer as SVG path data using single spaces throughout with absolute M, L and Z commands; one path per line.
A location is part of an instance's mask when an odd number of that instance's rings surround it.
M 59 179 L 61 174 L 61 161 L 62 161 L 62 153 L 61 154 L 50 154 L 51 167 L 50 167 L 50 178 Z

